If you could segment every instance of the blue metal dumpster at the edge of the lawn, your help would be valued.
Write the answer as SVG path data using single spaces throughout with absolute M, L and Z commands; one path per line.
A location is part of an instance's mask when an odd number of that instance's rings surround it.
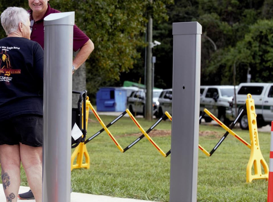
M 101 87 L 96 95 L 97 111 L 119 111 L 126 109 L 127 91 L 119 87 Z

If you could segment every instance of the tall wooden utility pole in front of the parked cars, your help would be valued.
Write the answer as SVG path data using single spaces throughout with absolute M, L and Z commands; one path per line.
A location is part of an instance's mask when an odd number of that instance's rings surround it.
M 150 3 L 153 3 L 150 0 Z M 145 117 L 146 120 L 152 120 L 152 40 L 153 40 L 153 19 L 151 13 L 148 13 L 148 26 L 147 26 L 147 68 L 146 68 L 146 103 L 145 103 Z

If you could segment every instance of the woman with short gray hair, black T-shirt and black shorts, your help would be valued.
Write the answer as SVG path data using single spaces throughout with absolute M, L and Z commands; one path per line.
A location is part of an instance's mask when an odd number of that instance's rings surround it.
M 9 7 L 1 14 L 7 34 L 0 40 L 0 163 L 7 202 L 17 201 L 20 162 L 36 202 L 42 202 L 42 47 L 30 40 L 29 14 Z M 0 200 L 2 201 L 2 200 Z

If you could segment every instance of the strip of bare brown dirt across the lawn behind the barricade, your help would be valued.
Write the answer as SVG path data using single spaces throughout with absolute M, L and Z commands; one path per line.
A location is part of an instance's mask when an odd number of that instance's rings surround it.
M 142 135 L 142 133 L 138 132 L 138 133 L 133 133 L 133 134 L 124 134 L 124 135 L 120 135 L 117 137 L 129 137 L 129 136 L 140 136 Z M 148 133 L 148 135 L 150 137 L 166 137 L 166 136 L 170 136 L 171 135 L 171 130 L 157 130 L 154 129 L 152 131 L 150 131 Z M 210 130 L 205 130 L 205 131 L 199 131 L 199 136 L 208 136 L 211 138 L 220 138 L 223 136 L 222 133 L 220 132 L 215 132 L 215 131 L 210 131 Z

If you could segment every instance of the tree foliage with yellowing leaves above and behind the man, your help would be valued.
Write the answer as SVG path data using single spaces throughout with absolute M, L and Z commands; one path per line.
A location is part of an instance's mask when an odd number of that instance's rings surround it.
M 156 21 L 167 19 L 166 4 L 172 0 L 55 0 L 50 6 L 62 12 L 75 11 L 75 23 L 94 42 L 95 50 L 87 60 L 87 87 L 98 87 L 118 80 L 140 58 L 138 47 L 144 47 L 147 13 Z M 23 0 L 1 0 L 3 11 L 9 6 L 28 8 Z M 4 37 L 3 29 L 1 37 Z

